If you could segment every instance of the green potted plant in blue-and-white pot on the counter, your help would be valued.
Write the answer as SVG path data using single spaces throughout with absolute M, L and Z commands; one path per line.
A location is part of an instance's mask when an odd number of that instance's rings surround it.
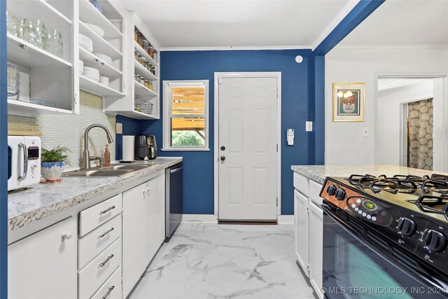
M 50 151 L 42 148 L 41 153 L 41 175 L 47 181 L 57 181 L 64 171 L 69 148 L 56 146 Z

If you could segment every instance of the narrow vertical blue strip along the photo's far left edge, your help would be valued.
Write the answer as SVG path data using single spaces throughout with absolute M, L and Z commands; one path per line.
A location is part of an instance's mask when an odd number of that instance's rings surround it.
M 0 1 L 0 298 L 8 297 L 8 103 L 6 92 L 6 1 Z

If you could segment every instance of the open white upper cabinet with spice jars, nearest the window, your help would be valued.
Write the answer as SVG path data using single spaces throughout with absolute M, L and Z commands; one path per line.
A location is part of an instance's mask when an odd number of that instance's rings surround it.
M 126 97 L 106 102 L 106 111 L 139 119 L 159 119 L 160 47 L 151 33 L 130 13 L 125 23 Z

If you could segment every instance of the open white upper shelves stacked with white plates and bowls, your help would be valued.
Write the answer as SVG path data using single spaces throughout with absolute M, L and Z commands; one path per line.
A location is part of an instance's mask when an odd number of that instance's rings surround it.
M 125 10 L 118 1 L 101 1 L 101 11 L 89 0 L 79 4 L 80 90 L 106 102 L 125 96 L 123 24 Z

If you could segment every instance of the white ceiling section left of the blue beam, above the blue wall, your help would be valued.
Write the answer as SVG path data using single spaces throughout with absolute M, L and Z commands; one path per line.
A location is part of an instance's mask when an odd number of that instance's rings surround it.
M 124 0 L 162 48 L 311 48 L 356 0 Z M 321 36 L 322 37 L 322 36 Z M 319 42 L 320 40 L 318 40 Z

